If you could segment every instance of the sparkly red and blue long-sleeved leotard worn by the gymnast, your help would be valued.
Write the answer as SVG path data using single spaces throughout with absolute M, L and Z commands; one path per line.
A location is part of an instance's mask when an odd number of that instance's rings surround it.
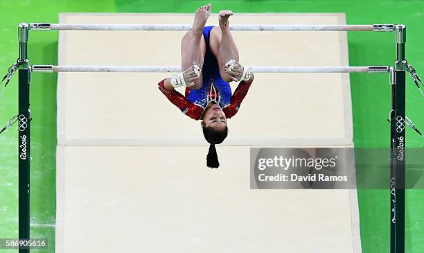
M 186 88 L 186 96 L 183 96 L 175 89 L 168 90 L 164 86 L 164 81 L 159 82 L 159 90 L 176 105 L 184 114 L 191 119 L 199 120 L 206 105 L 214 101 L 219 103 L 227 119 L 234 116 L 240 104 L 245 98 L 251 82 L 241 81 L 234 94 L 231 95 L 231 87 L 228 82 L 222 80 L 218 62 L 209 46 L 209 35 L 213 26 L 206 26 L 203 29 L 204 40 L 206 42 L 206 53 L 202 68 L 203 83 L 200 89 Z

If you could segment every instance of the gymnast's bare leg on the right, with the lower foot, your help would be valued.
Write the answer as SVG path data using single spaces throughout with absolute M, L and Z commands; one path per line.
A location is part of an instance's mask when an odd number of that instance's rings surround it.
M 220 65 L 221 78 L 227 82 L 231 82 L 231 76 L 224 71 L 225 63 L 229 60 L 238 61 L 238 49 L 233 40 L 231 31 L 229 29 L 229 16 L 233 15 L 231 10 L 221 10 L 218 16 L 220 28 L 213 28 L 211 30 L 211 51 L 215 55 Z

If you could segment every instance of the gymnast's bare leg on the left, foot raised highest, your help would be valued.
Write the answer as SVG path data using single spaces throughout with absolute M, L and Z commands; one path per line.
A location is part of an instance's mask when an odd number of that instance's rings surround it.
M 211 15 L 211 5 L 200 6 L 195 13 L 195 19 L 191 30 L 184 35 L 181 42 L 182 71 L 185 71 L 193 65 L 202 69 L 203 58 L 206 53 L 206 42 L 203 38 L 204 24 Z M 191 89 L 200 89 L 202 87 L 202 78 L 195 80 L 195 85 Z

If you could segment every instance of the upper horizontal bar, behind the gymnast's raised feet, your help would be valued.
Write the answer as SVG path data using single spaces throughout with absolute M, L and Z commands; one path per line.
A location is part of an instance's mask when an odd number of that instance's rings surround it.
M 191 24 L 51 24 L 30 23 L 30 30 L 190 30 Z M 239 31 L 386 31 L 396 30 L 394 24 L 371 25 L 281 25 L 235 24 L 231 30 Z

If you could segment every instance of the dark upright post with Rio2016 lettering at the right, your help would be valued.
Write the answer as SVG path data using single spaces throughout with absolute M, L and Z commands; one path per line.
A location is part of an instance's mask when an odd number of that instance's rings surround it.
M 391 69 L 390 252 L 405 252 L 405 25 L 396 25 L 396 63 Z

